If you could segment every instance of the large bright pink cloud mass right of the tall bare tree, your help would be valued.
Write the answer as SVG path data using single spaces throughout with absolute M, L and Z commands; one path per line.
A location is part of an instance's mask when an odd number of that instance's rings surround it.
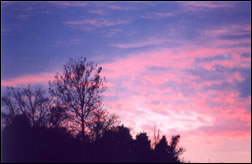
M 240 98 L 239 93 L 233 90 L 202 90 L 205 86 L 225 81 L 242 81 L 244 77 L 240 72 L 225 75 L 221 80 L 197 82 L 198 77 L 183 71 L 195 66 L 194 58 L 216 54 L 232 54 L 233 57 L 228 61 L 210 62 L 212 65 L 209 70 L 216 71 L 214 64 L 240 67 L 242 61 L 239 60 L 239 54 L 242 52 L 244 49 L 239 48 L 186 47 L 182 51 L 173 48 L 142 52 L 104 63 L 104 75 L 112 83 L 107 92 L 117 98 L 105 99 L 104 103 L 110 105 L 110 110 L 118 114 L 122 122 L 135 131 L 145 130 L 150 136 L 153 131 L 149 124 L 157 122 L 163 133 L 177 129 L 177 132 L 187 135 L 197 131 L 206 136 L 214 134 L 229 139 L 248 138 L 249 131 L 243 129 L 241 124 L 232 129 L 232 122 L 242 121 L 247 127 L 251 127 L 251 117 L 247 110 L 251 104 L 250 99 Z M 173 81 L 175 86 L 166 85 L 169 81 Z M 182 86 L 184 88 L 180 90 L 179 87 Z M 209 105 L 211 103 L 215 105 Z M 218 121 L 221 119 L 225 119 L 227 124 Z M 229 130 L 221 131 L 218 126 Z M 142 129 L 143 127 L 148 128 Z M 211 128 L 206 130 L 204 127 Z

